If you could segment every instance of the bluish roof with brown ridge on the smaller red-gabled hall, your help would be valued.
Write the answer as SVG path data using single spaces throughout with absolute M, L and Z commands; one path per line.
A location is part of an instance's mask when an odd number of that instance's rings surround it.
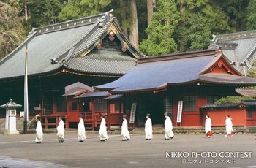
M 186 83 L 217 83 L 230 85 L 256 85 L 256 79 L 229 74 L 205 73 L 217 64 L 222 53 L 201 50 L 171 56 L 140 58 L 126 75 L 111 83 L 95 88 L 110 93 L 159 91 L 168 85 Z M 224 59 L 225 60 L 225 59 Z

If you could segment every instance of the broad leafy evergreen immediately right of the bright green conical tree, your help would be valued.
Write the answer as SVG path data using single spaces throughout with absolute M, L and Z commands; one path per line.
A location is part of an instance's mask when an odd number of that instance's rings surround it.
M 206 49 L 213 34 L 229 31 L 227 15 L 208 0 L 178 0 L 181 21 L 175 33 L 179 51 Z

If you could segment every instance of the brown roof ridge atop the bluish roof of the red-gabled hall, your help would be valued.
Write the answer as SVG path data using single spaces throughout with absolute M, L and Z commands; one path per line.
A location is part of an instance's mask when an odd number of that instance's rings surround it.
M 195 51 L 189 51 L 184 53 L 172 53 L 172 54 L 167 54 L 163 56 L 138 58 L 138 64 L 155 62 L 155 61 L 176 60 L 176 59 L 183 59 L 183 58 L 195 58 L 199 56 L 210 56 L 210 55 L 216 55 L 218 52 L 219 50 L 214 48 L 214 49 L 207 49 L 207 50 L 195 50 Z

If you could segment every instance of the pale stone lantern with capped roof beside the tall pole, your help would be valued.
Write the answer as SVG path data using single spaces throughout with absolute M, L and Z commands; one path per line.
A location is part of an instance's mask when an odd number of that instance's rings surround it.
M 6 109 L 4 134 L 20 134 L 16 129 L 16 109 L 22 107 L 22 105 L 12 102 L 12 99 L 10 99 L 10 102 L 0 107 Z

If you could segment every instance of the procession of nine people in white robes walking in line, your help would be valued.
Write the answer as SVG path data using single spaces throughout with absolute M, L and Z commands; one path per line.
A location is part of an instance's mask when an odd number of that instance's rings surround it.
M 164 113 L 165 115 L 165 140 L 171 140 L 174 137 L 173 134 L 173 123 L 172 120 L 167 112 Z M 130 140 L 130 134 L 129 134 L 129 127 L 127 122 L 127 115 L 123 115 L 123 122 L 121 125 L 121 140 L 127 141 Z M 101 142 L 105 142 L 109 139 L 108 137 L 108 131 L 105 121 L 105 114 L 100 115 L 100 126 L 99 126 L 99 140 Z M 36 116 L 37 121 L 37 127 L 36 127 L 36 143 L 42 142 L 42 123 L 41 123 L 41 117 L 39 115 Z M 230 115 L 226 115 L 225 119 L 225 129 L 226 134 L 225 137 L 233 137 L 233 123 L 232 118 L 230 118 Z M 59 117 L 59 125 L 57 126 L 57 137 L 59 142 L 64 142 L 64 121 L 62 120 L 62 117 Z M 211 118 L 210 115 L 206 115 L 206 122 L 205 122 L 205 132 L 206 137 L 210 138 L 213 137 L 213 133 L 211 131 Z M 145 137 L 146 140 L 151 140 L 153 138 L 153 127 L 152 127 L 152 121 L 150 118 L 150 114 L 146 114 L 146 123 L 145 123 Z M 86 140 L 86 128 L 83 121 L 83 115 L 79 115 L 79 122 L 78 122 L 78 142 L 84 142 Z

